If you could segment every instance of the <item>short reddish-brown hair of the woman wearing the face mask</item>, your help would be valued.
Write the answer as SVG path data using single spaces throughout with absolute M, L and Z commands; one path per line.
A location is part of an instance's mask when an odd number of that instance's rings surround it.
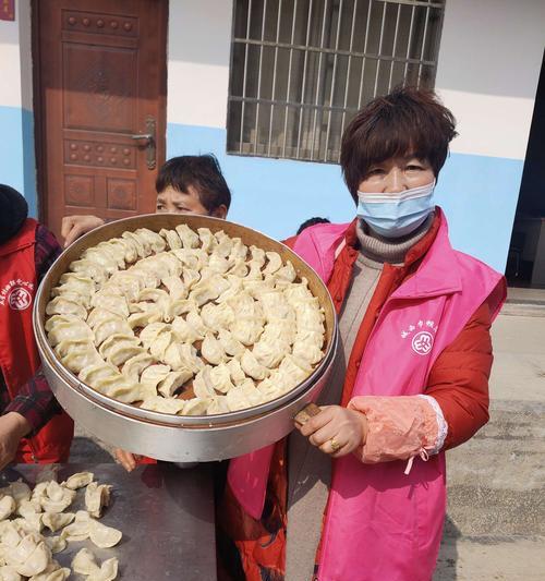
M 437 178 L 455 128 L 455 117 L 433 90 L 398 87 L 372 100 L 342 135 L 340 165 L 352 197 L 358 199 L 358 187 L 373 164 L 396 156 L 427 160 Z

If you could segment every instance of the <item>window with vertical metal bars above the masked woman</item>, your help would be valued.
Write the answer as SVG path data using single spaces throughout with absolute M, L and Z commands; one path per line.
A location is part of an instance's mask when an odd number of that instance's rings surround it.
M 433 87 L 445 0 L 234 0 L 227 150 L 338 162 L 377 95 Z

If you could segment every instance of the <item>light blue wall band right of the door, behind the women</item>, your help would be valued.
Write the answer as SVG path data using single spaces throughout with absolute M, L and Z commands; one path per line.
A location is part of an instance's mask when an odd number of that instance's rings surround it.
M 233 194 L 229 218 L 282 239 L 313 216 L 353 218 L 355 206 L 335 165 L 231 156 L 222 129 L 169 123 L 167 155 L 213 153 Z M 455 247 L 504 271 L 523 160 L 452 154 L 436 189 Z

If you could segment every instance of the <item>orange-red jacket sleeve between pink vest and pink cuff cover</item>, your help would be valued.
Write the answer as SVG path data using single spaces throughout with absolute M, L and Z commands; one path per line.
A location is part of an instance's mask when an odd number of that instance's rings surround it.
M 439 403 L 448 424 L 444 449 L 470 439 L 488 421 L 491 325 L 491 312 L 485 303 L 437 358 L 429 374 L 426 395 Z

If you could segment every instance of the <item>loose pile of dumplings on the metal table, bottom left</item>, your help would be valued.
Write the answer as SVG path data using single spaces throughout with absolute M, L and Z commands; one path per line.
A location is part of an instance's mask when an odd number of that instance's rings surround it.
M 68 542 L 90 538 L 97 547 L 109 548 L 121 541 L 121 531 L 96 520 L 109 504 L 111 486 L 93 479 L 90 472 L 80 472 L 61 484 L 38 482 L 34 491 L 21 481 L 0 488 L 0 581 L 64 581 L 71 569 L 52 555 L 64 550 Z M 84 487 L 85 510 L 65 512 Z M 82 548 L 72 569 L 88 576 L 87 581 L 112 581 L 118 559 L 98 565 L 93 553 Z

